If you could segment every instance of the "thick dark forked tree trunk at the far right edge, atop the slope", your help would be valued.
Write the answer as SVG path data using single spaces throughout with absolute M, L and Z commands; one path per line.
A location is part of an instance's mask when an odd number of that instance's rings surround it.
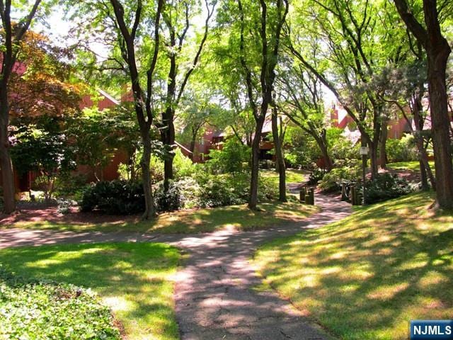
M 436 203 L 440 208 L 453 208 L 453 163 L 450 144 L 450 119 L 446 70 L 451 50 L 442 35 L 436 0 L 423 0 L 424 26 L 415 18 L 406 0 L 394 0 L 404 23 L 423 45 L 428 55 L 428 91 L 432 120 L 432 145 L 436 171 Z

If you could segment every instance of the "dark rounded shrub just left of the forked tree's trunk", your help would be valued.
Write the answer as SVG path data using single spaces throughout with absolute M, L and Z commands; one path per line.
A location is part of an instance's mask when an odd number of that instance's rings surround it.
M 143 186 L 132 181 L 101 181 L 84 192 L 80 206 L 84 212 L 100 210 L 111 215 L 143 212 Z

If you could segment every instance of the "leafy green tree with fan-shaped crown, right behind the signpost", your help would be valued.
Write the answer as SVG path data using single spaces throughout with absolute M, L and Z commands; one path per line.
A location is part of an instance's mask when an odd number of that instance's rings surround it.
M 378 174 L 384 101 L 372 78 L 391 62 L 393 32 L 382 28 L 384 3 L 374 1 L 300 1 L 289 26 L 294 57 L 330 89 L 360 130 L 370 150 L 372 176 Z M 313 51 L 317 50 L 316 64 Z M 315 60 L 316 60 L 315 59 Z

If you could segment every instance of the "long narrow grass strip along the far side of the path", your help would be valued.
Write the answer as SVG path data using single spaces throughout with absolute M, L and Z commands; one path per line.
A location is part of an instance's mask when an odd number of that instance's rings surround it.
M 156 220 L 119 223 L 16 222 L 11 227 L 26 229 L 54 229 L 72 232 L 213 232 L 226 227 L 241 230 L 265 229 L 283 222 L 297 222 L 318 211 L 300 203 L 262 203 L 261 211 L 251 211 L 246 205 L 221 208 L 180 210 L 159 215 Z

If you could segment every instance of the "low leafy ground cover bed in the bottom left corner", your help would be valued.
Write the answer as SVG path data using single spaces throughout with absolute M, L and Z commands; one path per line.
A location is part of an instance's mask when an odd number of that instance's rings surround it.
M 0 266 L 0 292 L 1 339 L 121 339 L 90 290 L 25 280 Z

